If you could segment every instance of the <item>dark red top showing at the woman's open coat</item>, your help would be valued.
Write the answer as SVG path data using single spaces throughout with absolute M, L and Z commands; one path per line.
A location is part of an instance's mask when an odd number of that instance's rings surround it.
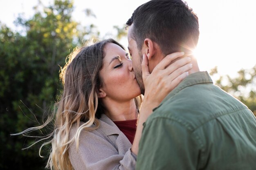
M 121 130 L 121 132 L 123 132 L 124 135 L 126 135 L 130 143 L 132 144 L 135 137 L 136 128 L 137 128 L 137 119 L 113 121 L 113 122 L 117 125 L 117 127 Z

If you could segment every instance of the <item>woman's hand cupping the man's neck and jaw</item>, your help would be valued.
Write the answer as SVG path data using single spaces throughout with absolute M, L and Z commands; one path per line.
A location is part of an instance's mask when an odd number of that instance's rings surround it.
M 157 107 L 164 97 L 189 75 L 188 71 L 192 68 L 192 64 L 189 63 L 191 58 L 182 57 L 183 55 L 183 52 L 167 55 L 155 66 L 152 73 L 149 73 L 148 59 L 146 55 L 143 55 L 141 68 L 145 87 L 144 105 L 151 108 Z M 177 60 L 179 57 L 182 58 Z

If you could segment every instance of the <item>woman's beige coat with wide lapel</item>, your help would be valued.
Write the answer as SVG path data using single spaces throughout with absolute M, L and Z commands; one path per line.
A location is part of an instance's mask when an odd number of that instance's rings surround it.
M 135 170 L 137 157 L 130 150 L 130 141 L 106 115 L 99 120 L 99 129 L 81 132 L 78 150 L 76 144 L 70 144 L 68 153 L 74 170 Z M 75 132 L 73 126 L 70 138 Z

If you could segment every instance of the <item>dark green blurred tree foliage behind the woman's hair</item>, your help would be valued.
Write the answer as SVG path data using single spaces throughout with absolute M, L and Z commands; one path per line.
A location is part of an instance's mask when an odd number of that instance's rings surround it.
M 16 20 L 24 32 L 13 32 L 4 24 L 0 27 L 1 170 L 44 169 L 46 161 L 38 155 L 40 145 L 22 150 L 34 139 L 10 134 L 42 124 L 62 91 L 58 72 L 65 58 L 79 42 L 99 35 L 93 24 L 81 26 L 72 20 L 70 0 L 55 0 L 38 11 L 41 6 L 35 7 L 33 18 Z M 47 154 L 43 152 L 43 156 Z

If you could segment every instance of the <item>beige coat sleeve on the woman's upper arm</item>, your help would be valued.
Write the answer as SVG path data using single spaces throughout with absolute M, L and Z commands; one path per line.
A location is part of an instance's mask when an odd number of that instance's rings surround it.
M 120 155 L 115 144 L 97 130 L 81 132 L 78 149 L 73 142 L 68 152 L 74 170 L 135 170 L 136 155 L 130 149 Z

